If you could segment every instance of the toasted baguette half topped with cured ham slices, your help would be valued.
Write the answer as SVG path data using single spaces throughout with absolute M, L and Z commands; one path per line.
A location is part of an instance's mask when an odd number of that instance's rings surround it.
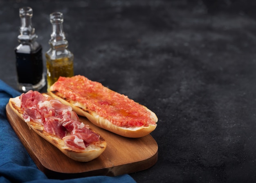
M 91 161 L 106 149 L 100 134 L 81 123 L 70 106 L 49 95 L 30 90 L 10 98 L 9 106 L 29 128 L 71 159 Z

